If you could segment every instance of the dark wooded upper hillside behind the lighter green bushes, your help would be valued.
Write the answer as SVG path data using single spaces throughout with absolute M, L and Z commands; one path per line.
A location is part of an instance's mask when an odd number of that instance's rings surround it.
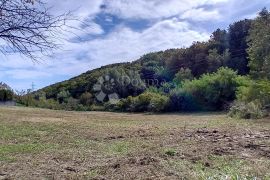
M 228 31 L 216 30 L 208 42 L 194 42 L 189 48 L 149 53 L 132 63 L 107 65 L 38 92 L 45 92 L 47 98 L 57 98 L 57 94 L 63 91 L 69 91 L 74 98 L 79 98 L 84 92 L 94 94 L 93 85 L 98 78 L 106 73 L 116 75 L 114 71 L 118 71 L 123 76 L 129 75 L 128 71 L 133 70 L 138 73 L 136 74 L 138 77 L 133 78 L 168 82 L 174 79 L 181 68 L 190 69 L 194 77 L 215 72 L 221 66 L 230 67 L 237 70 L 239 74 L 245 75 L 249 73 L 246 39 L 250 24 L 251 20 L 239 21 L 230 25 Z M 127 95 L 134 95 L 134 93 L 136 94 L 132 91 Z

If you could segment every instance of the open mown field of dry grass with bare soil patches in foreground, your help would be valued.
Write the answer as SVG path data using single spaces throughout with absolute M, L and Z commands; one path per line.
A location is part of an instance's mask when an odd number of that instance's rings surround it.
M 213 113 L 0 108 L 0 179 L 270 179 L 269 130 Z

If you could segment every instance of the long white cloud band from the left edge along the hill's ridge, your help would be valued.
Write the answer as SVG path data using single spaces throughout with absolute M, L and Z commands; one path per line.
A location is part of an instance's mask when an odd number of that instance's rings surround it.
M 71 77 L 102 65 L 136 60 L 148 52 L 189 46 L 193 41 L 203 41 L 208 37 L 205 32 L 192 30 L 187 22 L 173 18 L 157 22 L 140 33 L 119 26 L 103 39 L 67 42 L 65 51 L 58 50 L 53 59 L 45 59 L 35 65 L 13 55 L 0 67 L 7 69 L 5 74 L 10 78 L 27 79 L 29 82 L 26 85 L 29 86 L 32 80 L 65 75 Z

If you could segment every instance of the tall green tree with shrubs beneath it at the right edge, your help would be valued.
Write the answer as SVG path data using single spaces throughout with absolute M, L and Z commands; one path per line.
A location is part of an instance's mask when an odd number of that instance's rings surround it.
M 230 115 L 262 118 L 270 108 L 270 12 L 264 8 L 252 21 L 249 35 L 249 67 L 253 80 L 237 91 Z

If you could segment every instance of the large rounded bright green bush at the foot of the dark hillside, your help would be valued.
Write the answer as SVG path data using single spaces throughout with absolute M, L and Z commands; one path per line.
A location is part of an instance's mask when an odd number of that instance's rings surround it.
M 221 110 L 235 99 L 238 85 L 237 73 L 221 68 L 216 73 L 204 74 L 199 79 L 185 82 L 183 91 L 192 94 L 205 110 Z

